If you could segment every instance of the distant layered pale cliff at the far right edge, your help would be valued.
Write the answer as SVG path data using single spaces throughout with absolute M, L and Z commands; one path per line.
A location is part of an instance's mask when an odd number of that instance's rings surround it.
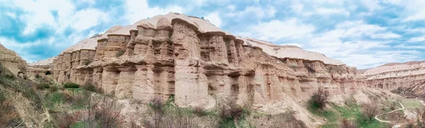
M 425 82 L 425 61 L 384 64 L 365 70 L 363 75 L 374 88 L 392 91 L 402 87 L 412 88 L 418 94 L 425 92 L 421 89 Z

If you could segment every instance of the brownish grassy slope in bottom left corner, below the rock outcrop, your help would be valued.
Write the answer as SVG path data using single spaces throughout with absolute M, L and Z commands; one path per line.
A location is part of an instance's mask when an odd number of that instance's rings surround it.
M 29 125 L 28 127 L 37 126 L 41 120 L 38 116 L 44 112 L 42 101 L 33 90 L 32 85 L 33 83 L 30 81 L 16 78 L 11 71 L 0 64 L 0 104 L 6 105 L 6 100 L 12 100 L 13 102 L 8 104 L 8 107 L 11 107 L 9 112 L 16 113 L 19 118 L 16 120 L 23 121 L 23 124 Z M 2 116 L 0 118 L 8 117 Z M 16 121 L 13 120 L 3 123 L 9 127 L 17 126 Z

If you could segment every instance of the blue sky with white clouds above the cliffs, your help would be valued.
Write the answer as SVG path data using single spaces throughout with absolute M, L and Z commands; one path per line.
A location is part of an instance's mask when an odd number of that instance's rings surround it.
M 0 0 L 0 42 L 35 62 L 113 25 L 172 11 L 365 69 L 425 59 L 424 6 L 424 0 Z

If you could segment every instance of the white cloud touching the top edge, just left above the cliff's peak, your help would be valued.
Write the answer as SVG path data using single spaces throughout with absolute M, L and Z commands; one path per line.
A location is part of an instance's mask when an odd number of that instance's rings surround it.
M 168 6 L 166 8 L 149 8 L 146 0 L 125 0 L 125 18 L 129 23 L 136 23 L 142 19 L 150 18 L 157 15 L 163 15 L 165 13 L 184 13 L 183 8 L 180 6 Z

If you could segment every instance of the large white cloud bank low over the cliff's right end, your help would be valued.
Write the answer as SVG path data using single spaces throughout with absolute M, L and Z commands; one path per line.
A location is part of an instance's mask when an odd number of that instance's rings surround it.
M 368 36 L 384 39 L 365 40 L 364 37 Z M 385 39 L 397 37 L 401 36 L 388 32 L 379 25 L 370 25 L 363 21 L 346 21 L 337 24 L 334 30 L 314 35 L 304 48 L 363 69 L 414 58 L 414 54 L 407 54 L 409 50 L 384 52 L 392 48 L 389 44 L 391 41 Z

